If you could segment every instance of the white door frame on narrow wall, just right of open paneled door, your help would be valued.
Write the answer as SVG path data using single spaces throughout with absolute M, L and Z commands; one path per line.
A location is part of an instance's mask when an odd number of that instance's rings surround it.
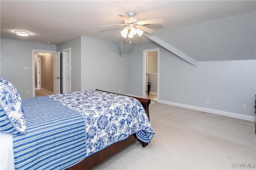
M 69 62 L 69 73 L 70 73 L 70 92 L 71 92 L 71 48 L 66 48 L 62 50 L 62 93 L 66 93 L 67 92 L 67 87 L 66 87 L 66 53 L 69 52 L 70 55 L 70 62 Z

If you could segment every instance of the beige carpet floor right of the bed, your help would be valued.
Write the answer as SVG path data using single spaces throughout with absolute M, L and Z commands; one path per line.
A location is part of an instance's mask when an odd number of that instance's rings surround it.
M 154 101 L 150 122 L 148 146 L 135 142 L 95 169 L 255 169 L 254 122 Z

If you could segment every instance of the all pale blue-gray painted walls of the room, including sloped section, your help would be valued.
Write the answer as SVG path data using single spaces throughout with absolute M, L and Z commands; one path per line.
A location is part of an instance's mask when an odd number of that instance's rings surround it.
M 191 53 L 191 57 L 198 57 L 200 62 L 194 67 L 160 47 L 159 100 L 254 116 L 253 14 L 255 12 L 170 30 L 174 37 L 172 45 L 178 49 L 182 47 L 182 52 Z M 216 34 L 222 26 L 226 33 L 229 30 L 232 34 Z M 190 39 L 195 31 L 198 39 L 196 36 Z M 180 36 L 175 38 L 174 34 Z M 122 94 L 138 96 L 142 96 L 143 50 L 159 48 L 154 43 L 139 44 L 132 53 L 120 57 L 114 43 L 87 37 L 75 38 L 57 47 L 1 39 L 1 76 L 14 82 L 22 97 L 32 97 L 32 93 L 26 95 L 26 90 L 32 91 L 32 49 L 62 51 L 68 47 L 71 47 L 73 67 L 72 91 L 98 88 L 117 93 L 120 89 Z M 254 59 L 235 60 L 237 55 Z M 207 57 L 212 61 L 201 61 Z M 218 61 L 220 58 L 229 61 Z M 30 71 L 24 71 L 23 67 L 29 67 Z M 210 99 L 209 104 L 206 99 Z M 247 109 L 242 109 L 243 104 L 247 104 Z

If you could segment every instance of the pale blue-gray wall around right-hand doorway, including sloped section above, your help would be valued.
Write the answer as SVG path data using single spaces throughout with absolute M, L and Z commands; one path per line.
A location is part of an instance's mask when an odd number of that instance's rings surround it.
M 255 18 L 254 11 L 166 33 L 171 45 L 199 62 L 194 67 L 160 47 L 158 100 L 254 116 Z M 129 94 L 142 96 L 143 50 L 158 47 L 139 44 L 129 55 Z M 241 55 L 246 60 L 236 60 Z

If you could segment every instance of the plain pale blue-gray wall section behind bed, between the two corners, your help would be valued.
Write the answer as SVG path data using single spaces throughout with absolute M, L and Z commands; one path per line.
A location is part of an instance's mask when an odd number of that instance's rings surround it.
M 124 57 L 113 42 L 82 36 L 81 89 L 126 94 Z

